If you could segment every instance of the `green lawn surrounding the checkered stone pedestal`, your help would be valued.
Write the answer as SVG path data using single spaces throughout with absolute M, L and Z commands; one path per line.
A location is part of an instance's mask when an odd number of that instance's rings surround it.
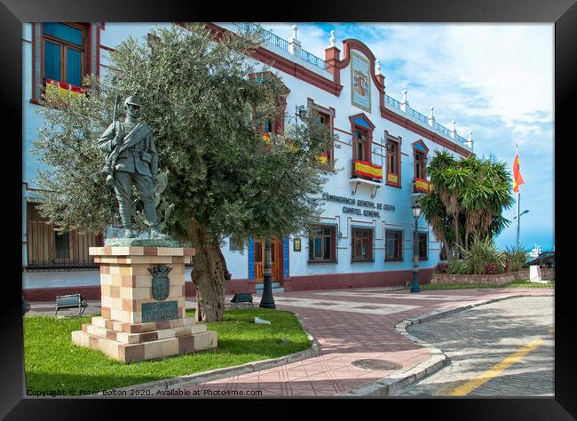
M 187 311 L 193 316 L 194 311 Z M 272 324 L 255 324 L 255 317 Z M 99 391 L 178 377 L 296 353 L 311 346 L 295 314 L 265 308 L 230 309 L 224 322 L 207 323 L 218 333 L 217 349 L 159 361 L 124 364 L 73 345 L 70 332 L 91 317 L 24 318 L 24 361 L 28 391 Z M 288 342 L 282 339 L 288 339 Z M 64 391 L 64 392 L 60 392 Z

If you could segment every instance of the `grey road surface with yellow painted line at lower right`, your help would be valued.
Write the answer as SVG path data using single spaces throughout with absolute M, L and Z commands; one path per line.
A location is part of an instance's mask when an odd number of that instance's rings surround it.
M 408 330 L 451 365 L 400 396 L 553 396 L 554 298 L 502 300 Z

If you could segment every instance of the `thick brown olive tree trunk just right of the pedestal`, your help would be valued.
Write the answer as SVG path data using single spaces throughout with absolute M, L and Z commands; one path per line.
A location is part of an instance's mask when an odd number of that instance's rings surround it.
M 196 248 L 191 274 L 196 287 L 195 319 L 197 322 L 222 322 L 230 274 L 220 244 L 209 238 L 202 226 L 191 224 L 189 233 Z

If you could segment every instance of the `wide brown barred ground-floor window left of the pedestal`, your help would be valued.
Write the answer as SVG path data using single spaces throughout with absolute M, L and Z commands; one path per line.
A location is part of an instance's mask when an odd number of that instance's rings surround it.
M 55 228 L 42 217 L 36 203 L 28 203 L 28 270 L 98 268 L 88 250 L 104 245 L 102 234 L 83 234 L 76 229 L 59 233 Z

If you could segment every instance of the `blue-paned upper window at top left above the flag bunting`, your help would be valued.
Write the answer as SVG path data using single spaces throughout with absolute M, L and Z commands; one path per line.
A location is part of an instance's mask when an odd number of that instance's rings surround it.
M 43 84 L 47 79 L 73 86 L 85 75 L 86 28 L 72 23 L 43 23 Z

